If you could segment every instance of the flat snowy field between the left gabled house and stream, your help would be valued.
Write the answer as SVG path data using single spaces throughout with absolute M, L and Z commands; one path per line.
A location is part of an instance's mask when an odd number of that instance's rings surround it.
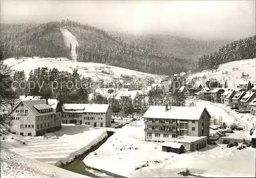
M 66 164 L 72 161 L 76 155 L 83 153 L 105 138 L 107 133 L 103 129 L 94 129 L 88 125 L 64 124 L 51 136 L 55 137 L 46 139 L 45 137 L 23 137 L 10 134 L 5 137 L 5 140 L 1 140 L 1 147 L 8 148 L 23 157 L 57 166 L 60 163 Z

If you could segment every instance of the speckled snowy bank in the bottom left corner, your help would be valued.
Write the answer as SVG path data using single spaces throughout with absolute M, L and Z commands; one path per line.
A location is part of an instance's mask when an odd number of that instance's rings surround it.
M 55 178 L 88 176 L 61 169 L 50 164 L 41 163 L 37 160 L 28 159 L 1 147 L 1 177 Z

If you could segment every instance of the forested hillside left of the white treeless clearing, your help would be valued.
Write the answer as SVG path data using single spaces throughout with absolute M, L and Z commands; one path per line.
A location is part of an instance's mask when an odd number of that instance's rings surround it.
M 1 24 L 1 59 L 68 57 L 59 27 L 47 24 Z

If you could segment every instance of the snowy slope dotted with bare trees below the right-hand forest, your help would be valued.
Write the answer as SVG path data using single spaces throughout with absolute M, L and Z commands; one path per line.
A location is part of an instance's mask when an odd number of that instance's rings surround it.
M 213 73 L 211 71 L 203 71 L 202 73 L 196 73 L 192 74 L 191 77 L 199 77 L 198 80 L 205 81 L 209 78 L 216 78 L 221 83 L 224 83 L 225 80 L 227 80 L 228 87 L 237 87 L 240 81 L 243 81 L 244 79 L 241 78 L 242 72 L 245 74 L 249 74 L 248 81 L 251 83 L 255 83 L 255 73 L 256 73 L 256 67 L 255 67 L 256 58 L 254 59 L 245 59 L 245 60 L 239 60 L 239 61 L 232 61 L 228 63 L 221 64 L 219 69 L 214 71 Z M 233 71 L 232 68 L 239 68 L 238 70 L 235 69 Z M 228 74 L 222 74 L 223 72 L 228 72 Z M 206 76 L 206 79 L 203 79 L 203 76 Z

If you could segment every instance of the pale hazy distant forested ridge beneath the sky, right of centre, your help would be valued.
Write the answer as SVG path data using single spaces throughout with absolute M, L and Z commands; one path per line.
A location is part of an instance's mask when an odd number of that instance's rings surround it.
M 163 53 L 173 54 L 198 61 L 204 54 L 218 51 L 231 40 L 197 40 L 172 35 L 131 35 L 109 32 L 115 39 L 126 43 L 134 41 L 136 45 L 151 47 Z

